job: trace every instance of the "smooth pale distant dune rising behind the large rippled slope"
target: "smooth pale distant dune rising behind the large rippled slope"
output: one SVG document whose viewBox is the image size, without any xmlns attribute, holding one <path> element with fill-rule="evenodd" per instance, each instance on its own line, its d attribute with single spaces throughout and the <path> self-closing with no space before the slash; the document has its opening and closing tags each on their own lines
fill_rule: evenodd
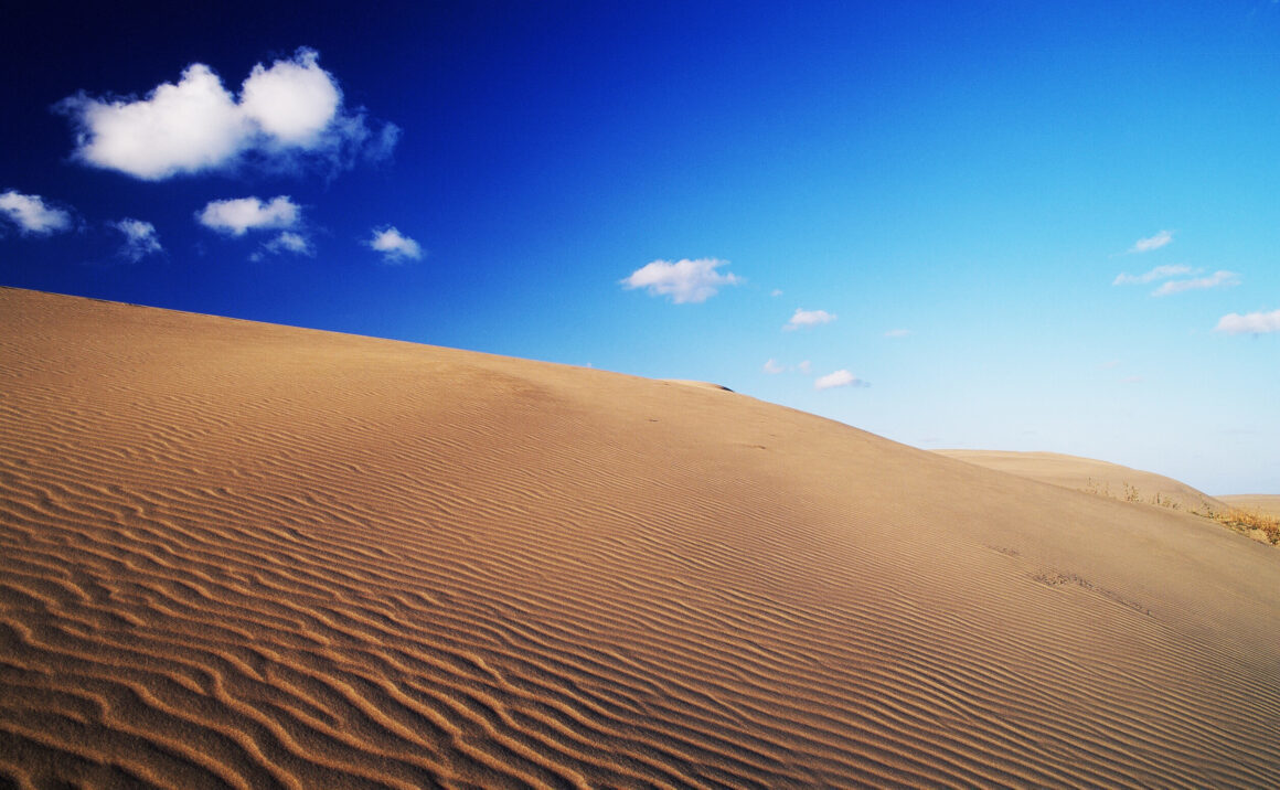
<svg viewBox="0 0 1280 790">
<path fill-rule="evenodd" d="M 1226 510 L 1226 504 L 1217 498 L 1172 478 L 1093 458 L 1052 452 L 998 449 L 940 449 L 936 452 L 948 458 L 968 461 L 1019 478 L 1052 483 L 1116 499 L 1125 499 L 1128 494 L 1130 498 L 1135 497 L 1138 502 L 1152 504 L 1158 494 L 1160 502 L 1165 503 L 1166 507 L 1176 504 L 1180 510 L 1201 512 L 1210 508 Z M 1132 488 L 1126 490 L 1125 485 Z"/>
</svg>

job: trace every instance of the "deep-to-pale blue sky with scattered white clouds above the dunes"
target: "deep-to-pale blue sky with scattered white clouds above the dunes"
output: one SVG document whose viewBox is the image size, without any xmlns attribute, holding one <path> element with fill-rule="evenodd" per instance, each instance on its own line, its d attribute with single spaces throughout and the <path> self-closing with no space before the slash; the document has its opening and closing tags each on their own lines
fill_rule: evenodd
<svg viewBox="0 0 1280 790">
<path fill-rule="evenodd" d="M 266 5 L 12 12 L 0 284 L 1280 493 L 1276 3 Z"/>
</svg>

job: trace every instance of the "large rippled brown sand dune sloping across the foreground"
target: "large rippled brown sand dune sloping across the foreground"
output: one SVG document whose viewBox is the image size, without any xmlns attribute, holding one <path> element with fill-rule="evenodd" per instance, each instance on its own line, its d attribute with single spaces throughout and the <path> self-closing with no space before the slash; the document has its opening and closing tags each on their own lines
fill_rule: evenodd
<svg viewBox="0 0 1280 790">
<path fill-rule="evenodd" d="M 1280 562 L 723 391 L 0 291 L 20 786 L 1249 786 Z"/>
</svg>

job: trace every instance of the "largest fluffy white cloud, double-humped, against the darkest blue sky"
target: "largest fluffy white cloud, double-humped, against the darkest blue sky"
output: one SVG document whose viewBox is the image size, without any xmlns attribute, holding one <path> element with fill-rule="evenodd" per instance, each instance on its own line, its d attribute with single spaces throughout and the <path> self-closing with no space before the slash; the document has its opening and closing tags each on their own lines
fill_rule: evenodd
<svg viewBox="0 0 1280 790">
<path fill-rule="evenodd" d="M 247 161 L 289 169 L 310 157 L 349 166 L 360 156 L 389 155 L 399 129 L 374 131 L 362 111 L 346 110 L 319 58 L 300 49 L 270 68 L 257 64 L 238 97 L 212 69 L 193 63 L 146 99 L 78 93 L 58 109 L 76 125 L 76 159 L 146 181 Z"/>
</svg>

